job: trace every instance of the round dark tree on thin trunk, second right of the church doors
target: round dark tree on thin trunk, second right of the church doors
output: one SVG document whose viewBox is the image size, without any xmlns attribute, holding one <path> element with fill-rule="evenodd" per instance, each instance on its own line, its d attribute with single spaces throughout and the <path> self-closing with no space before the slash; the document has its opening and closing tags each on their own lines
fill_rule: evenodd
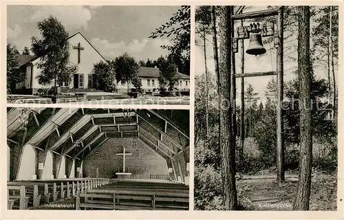
<svg viewBox="0 0 344 220">
<path fill-rule="evenodd" d="M 135 58 L 129 56 L 127 53 L 116 57 L 112 64 L 116 72 L 117 83 L 120 81 L 127 82 L 129 92 L 129 82 L 138 76 L 138 68 L 140 66 L 136 63 Z"/>
</svg>

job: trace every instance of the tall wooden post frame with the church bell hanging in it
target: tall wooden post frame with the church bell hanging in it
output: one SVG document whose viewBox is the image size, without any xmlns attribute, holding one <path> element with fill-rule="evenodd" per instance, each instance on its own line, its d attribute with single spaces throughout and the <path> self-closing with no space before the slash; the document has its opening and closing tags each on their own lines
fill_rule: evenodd
<svg viewBox="0 0 344 220">
<path fill-rule="evenodd" d="M 242 10 L 241 10 L 242 11 Z M 243 26 L 242 21 L 244 19 L 256 19 L 262 17 L 276 17 L 276 24 L 277 30 L 275 30 L 275 25 L 272 24 L 259 24 L 259 23 L 251 23 L 248 26 Z M 283 164 L 284 164 L 284 139 L 283 139 L 283 6 L 279 6 L 278 8 L 268 9 L 268 10 L 261 10 L 256 12 L 247 12 L 247 13 L 240 13 L 240 14 L 233 14 L 231 16 L 232 22 L 234 23 L 237 20 L 241 20 L 241 27 L 238 27 L 236 30 L 237 37 L 235 41 L 233 41 L 233 47 L 235 50 L 233 51 L 236 53 L 237 50 L 237 41 L 244 39 L 250 39 L 250 45 L 246 50 L 247 54 L 251 55 L 261 55 L 266 53 L 266 49 L 262 43 L 262 37 L 272 36 L 275 42 L 275 48 L 277 49 L 277 69 L 275 71 L 270 72 L 252 72 L 252 73 L 244 73 L 235 74 L 235 78 L 241 77 L 254 77 L 254 76 L 272 76 L 277 75 L 277 181 L 281 182 L 284 181 L 284 172 L 283 172 Z M 234 25 L 232 25 L 232 32 L 234 32 Z M 262 28 L 261 28 L 262 27 Z M 244 51 L 243 51 L 244 52 Z M 244 57 L 242 57 L 242 62 L 244 63 Z M 241 96 L 243 99 L 244 96 Z M 241 103 L 244 103 L 244 100 L 241 100 Z M 242 108 L 242 106 L 241 106 Z M 241 111 L 243 115 L 241 118 L 244 117 L 244 112 Z"/>
</svg>

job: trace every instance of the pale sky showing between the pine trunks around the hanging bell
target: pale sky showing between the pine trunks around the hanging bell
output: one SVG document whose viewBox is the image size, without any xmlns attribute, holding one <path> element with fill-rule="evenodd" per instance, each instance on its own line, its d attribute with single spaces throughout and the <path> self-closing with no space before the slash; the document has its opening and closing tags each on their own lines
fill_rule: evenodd
<svg viewBox="0 0 344 220">
<path fill-rule="evenodd" d="M 257 11 L 257 10 L 266 10 L 267 6 L 259 6 L 259 7 L 252 7 L 249 9 L 245 9 L 244 12 L 250 12 L 250 11 Z M 235 28 L 240 25 L 239 22 L 235 24 Z M 249 23 L 245 23 L 244 25 L 249 25 Z M 312 24 L 311 24 L 312 25 Z M 197 40 L 197 36 L 195 36 Z M 203 42 L 200 40 L 197 40 L 197 43 L 200 45 L 195 46 L 195 75 L 199 76 L 201 74 L 204 74 L 205 72 L 205 65 L 204 65 L 204 48 L 203 48 Z M 219 42 L 219 39 L 217 41 Z M 249 45 L 249 39 L 244 40 L 244 50 L 247 50 Z M 235 66 L 236 66 L 236 73 L 241 73 L 241 43 L 238 43 L 239 52 L 235 54 Z M 268 71 L 276 71 L 276 50 L 274 48 L 273 43 L 265 44 L 265 49 L 267 50 L 266 54 L 261 56 L 254 56 L 249 54 L 244 54 L 244 72 L 268 72 Z M 291 49 L 289 48 L 291 47 Z M 293 36 L 290 36 L 290 39 L 284 41 L 284 64 L 283 64 L 283 80 L 284 82 L 287 82 L 289 80 L 292 80 L 296 77 L 294 72 L 297 70 L 297 61 L 291 61 L 288 56 L 293 56 L 297 58 L 297 33 L 293 34 Z M 213 37 L 211 35 L 207 36 L 206 41 L 206 59 L 207 59 L 207 68 L 209 72 L 215 73 L 215 64 L 213 60 Z M 335 68 L 337 79 L 338 79 L 338 67 Z M 319 76 L 321 78 L 327 79 L 327 65 L 316 65 L 314 68 L 314 73 L 316 76 Z M 277 78 L 277 76 L 256 76 L 256 77 L 250 77 L 245 78 L 245 84 L 244 87 L 248 86 L 248 83 L 250 83 L 256 92 L 258 92 L 259 98 L 261 100 L 264 99 L 264 93 L 267 90 L 266 86 L 268 85 L 268 81 L 272 80 L 272 78 Z M 240 97 L 240 87 L 241 78 L 237 78 L 236 84 L 237 84 L 237 99 Z"/>
</svg>

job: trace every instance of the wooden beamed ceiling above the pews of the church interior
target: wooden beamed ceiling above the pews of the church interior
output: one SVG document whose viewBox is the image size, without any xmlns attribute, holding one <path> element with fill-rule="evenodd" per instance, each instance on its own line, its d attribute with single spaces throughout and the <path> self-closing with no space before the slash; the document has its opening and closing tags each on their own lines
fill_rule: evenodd
<svg viewBox="0 0 344 220">
<path fill-rule="evenodd" d="M 32 144 L 76 159 L 85 158 L 110 138 L 138 137 L 165 159 L 189 147 L 189 111 L 25 108 L 29 117 L 23 130 L 20 110 L 8 109 L 9 145 Z"/>
</svg>

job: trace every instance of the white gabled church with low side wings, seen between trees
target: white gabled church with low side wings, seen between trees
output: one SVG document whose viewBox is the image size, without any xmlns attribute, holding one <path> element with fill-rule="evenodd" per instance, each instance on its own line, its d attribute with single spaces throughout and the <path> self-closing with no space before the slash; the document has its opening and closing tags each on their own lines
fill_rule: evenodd
<svg viewBox="0 0 344 220">
<path fill-rule="evenodd" d="M 96 79 L 94 78 L 94 64 L 106 59 L 96 50 L 96 48 L 80 34 L 80 32 L 72 35 L 68 39 L 69 42 L 69 62 L 78 66 L 78 72 L 74 74 L 69 82 L 61 83 L 61 92 L 87 92 L 96 91 Z M 38 89 L 50 89 L 54 83 L 50 85 L 40 85 L 37 80 L 41 69 L 37 68 L 40 62 L 39 56 L 23 55 L 18 57 L 19 69 L 25 72 L 25 81 L 17 83 L 15 94 L 36 94 Z M 180 90 L 189 90 L 190 77 L 180 74 L 180 80 L 176 87 Z M 142 89 L 144 91 L 153 91 L 159 88 L 159 69 L 151 67 L 140 67 L 138 76 L 142 79 Z M 116 83 L 116 82 L 114 82 Z M 127 92 L 127 83 L 116 83 L 118 92 Z M 133 86 L 129 83 L 129 89 Z"/>
</svg>

